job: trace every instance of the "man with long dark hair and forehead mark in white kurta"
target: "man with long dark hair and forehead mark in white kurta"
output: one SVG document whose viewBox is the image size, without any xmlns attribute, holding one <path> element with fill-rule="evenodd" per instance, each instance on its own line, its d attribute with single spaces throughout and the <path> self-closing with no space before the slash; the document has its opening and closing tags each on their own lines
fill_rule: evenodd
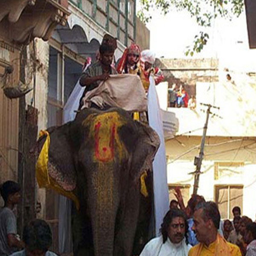
<svg viewBox="0 0 256 256">
<path fill-rule="evenodd" d="M 140 256 L 187 256 L 191 245 L 185 238 L 186 216 L 179 209 L 169 210 L 161 225 L 161 236 L 151 239 Z"/>
</svg>

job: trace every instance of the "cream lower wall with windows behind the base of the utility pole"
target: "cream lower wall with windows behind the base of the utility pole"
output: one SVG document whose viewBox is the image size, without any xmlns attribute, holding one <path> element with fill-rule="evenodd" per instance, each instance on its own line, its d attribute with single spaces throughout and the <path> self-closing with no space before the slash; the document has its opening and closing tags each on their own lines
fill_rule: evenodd
<svg viewBox="0 0 256 256">
<path fill-rule="evenodd" d="M 189 185 L 189 195 L 192 195 L 194 184 L 194 176 L 190 173 L 195 171 L 194 157 L 199 154 L 200 143 L 201 137 L 196 136 L 179 136 L 166 141 L 168 184 Z M 256 205 L 252 202 L 256 200 L 255 153 L 256 138 L 207 137 L 198 194 L 206 200 L 215 201 L 216 185 L 243 185 L 242 214 L 254 220 Z M 226 164 L 217 176 L 216 163 Z M 238 163 L 243 164 L 234 167 Z"/>
</svg>

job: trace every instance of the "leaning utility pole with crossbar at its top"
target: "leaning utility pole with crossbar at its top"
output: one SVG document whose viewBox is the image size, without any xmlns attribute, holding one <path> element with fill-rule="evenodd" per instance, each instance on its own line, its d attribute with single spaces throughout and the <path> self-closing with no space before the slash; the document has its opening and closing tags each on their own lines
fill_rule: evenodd
<svg viewBox="0 0 256 256">
<path fill-rule="evenodd" d="M 193 194 L 197 194 L 197 191 L 198 191 L 199 176 L 201 174 L 201 165 L 202 165 L 202 160 L 204 157 L 204 143 L 205 143 L 206 131 L 207 131 L 207 127 L 208 127 L 209 115 L 212 114 L 212 112 L 210 110 L 211 110 L 211 108 L 220 109 L 219 107 L 212 106 L 211 104 L 203 104 L 203 103 L 200 103 L 200 104 L 203 106 L 206 106 L 208 108 L 206 111 L 206 122 L 204 124 L 204 131 L 203 131 L 203 137 L 201 140 L 199 157 L 195 157 L 195 160 L 194 160 L 194 165 L 196 166 L 196 170 L 195 170 L 195 172 L 193 172 L 193 174 L 195 175 Z"/>
</svg>

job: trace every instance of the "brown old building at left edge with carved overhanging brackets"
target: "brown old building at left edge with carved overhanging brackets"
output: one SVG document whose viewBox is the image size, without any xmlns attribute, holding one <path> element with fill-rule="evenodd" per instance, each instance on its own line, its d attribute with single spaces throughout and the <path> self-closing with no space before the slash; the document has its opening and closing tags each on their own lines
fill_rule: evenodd
<svg viewBox="0 0 256 256">
<path fill-rule="evenodd" d="M 35 159 L 30 150 L 38 133 L 36 88 L 43 89 L 44 76 L 38 74 L 45 68 L 37 58 L 37 41 L 49 40 L 56 26 L 65 26 L 70 12 L 67 0 L 1 0 L 0 6 L 0 183 L 11 179 L 22 186 L 20 231 L 35 218 Z M 33 101 L 26 108 L 24 95 L 32 88 Z"/>
</svg>

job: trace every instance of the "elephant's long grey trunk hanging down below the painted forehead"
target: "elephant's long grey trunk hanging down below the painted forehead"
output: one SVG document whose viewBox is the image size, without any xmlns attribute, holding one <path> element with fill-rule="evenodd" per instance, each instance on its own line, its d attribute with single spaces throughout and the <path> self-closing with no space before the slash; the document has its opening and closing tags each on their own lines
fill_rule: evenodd
<svg viewBox="0 0 256 256">
<path fill-rule="evenodd" d="M 92 193 L 88 198 L 95 256 L 113 256 L 115 219 L 119 205 L 117 182 L 113 166 L 99 163 L 99 169 L 92 176 Z"/>
</svg>

